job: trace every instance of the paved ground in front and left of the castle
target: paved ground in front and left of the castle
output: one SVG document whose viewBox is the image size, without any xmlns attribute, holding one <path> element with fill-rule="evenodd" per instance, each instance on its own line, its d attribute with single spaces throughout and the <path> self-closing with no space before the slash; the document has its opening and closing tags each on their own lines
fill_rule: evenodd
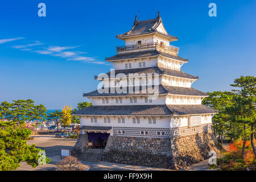
<svg viewBox="0 0 256 182">
<path fill-rule="evenodd" d="M 26 162 L 21 163 L 20 167 L 17 170 L 20 171 L 53 171 L 55 170 L 55 164 L 60 162 L 60 150 L 71 149 L 75 146 L 76 139 L 64 139 L 64 138 L 55 138 L 55 134 L 44 134 L 34 136 L 34 140 L 28 140 L 28 144 L 36 144 L 36 147 L 40 147 L 46 151 L 46 156 L 51 159 L 51 162 L 32 168 Z M 122 171 L 122 170 L 133 170 L 133 171 L 144 171 L 144 170 L 154 170 L 154 171 L 166 171 L 168 169 L 164 168 L 154 168 L 154 167 L 144 167 L 144 166 L 133 166 L 129 164 L 115 164 L 115 163 L 94 163 L 94 162 L 82 162 L 89 166 L 90 171 Z M 189 166 L 187 170 L 191 171 L 205 171 L 208 169 L 208 159 L 200 163 L 193 164 Z"/>
</svg>

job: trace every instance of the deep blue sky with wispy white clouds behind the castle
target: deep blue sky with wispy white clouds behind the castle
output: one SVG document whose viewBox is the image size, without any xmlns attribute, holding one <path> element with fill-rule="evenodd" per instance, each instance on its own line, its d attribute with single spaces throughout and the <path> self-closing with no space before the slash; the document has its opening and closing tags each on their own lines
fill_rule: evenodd
<svg viewBox="0 0 256 182">
<path fill-rule="evenodd" d="M 46 17 L 38 4 L 46 4 Z M 217 17 L 208 5 L 217 5 Z M 32 99 L 48 109 L 88 101 L 94 75 L 113 66 L 122 34 L 160 10 L 168 33 L 179 40 L 182 71 L 199 76 L 193 88 L 230 90 L 234 78 L 255 76 L 256 1 L 5 1 L 0 5 L 0 102 Z"/>
</svg>

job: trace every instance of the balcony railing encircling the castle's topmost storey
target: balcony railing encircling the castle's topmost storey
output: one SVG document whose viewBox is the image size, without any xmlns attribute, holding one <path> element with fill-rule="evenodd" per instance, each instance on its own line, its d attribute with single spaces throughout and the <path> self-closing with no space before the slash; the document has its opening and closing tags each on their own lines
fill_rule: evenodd
<svg viewBox="0 0 256 182">
<path fill-rule="evenodd" d="M 147 43 L 147 44 L 136 44 L 131 46 L 120 46 L 116 47 L 117 52 L 123 52 L 123 51 L 133 51 L 138 49 L 150 49 L 155 48 L 157 50 L 162 50 L 165 53 L 171 53 L 172 55 L 177 55 L 179 53 L 179 47 L 175 46 L 166 46 L 160 43 Z"/>
</svg>

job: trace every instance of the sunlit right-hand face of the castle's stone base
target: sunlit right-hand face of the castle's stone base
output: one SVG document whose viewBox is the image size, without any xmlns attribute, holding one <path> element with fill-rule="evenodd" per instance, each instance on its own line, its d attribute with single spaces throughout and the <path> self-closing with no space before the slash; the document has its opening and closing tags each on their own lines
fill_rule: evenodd
<svg viewBox="0 0 256 182">
<path fill-rule="evenodd" d="M 209 151 L 219 154 L 222 148 L 212 133 L 175 137 L 171 145 L 177 168 L 181 168 L 181 162 L 191 165 L 209 159 Z"/>
</svg>

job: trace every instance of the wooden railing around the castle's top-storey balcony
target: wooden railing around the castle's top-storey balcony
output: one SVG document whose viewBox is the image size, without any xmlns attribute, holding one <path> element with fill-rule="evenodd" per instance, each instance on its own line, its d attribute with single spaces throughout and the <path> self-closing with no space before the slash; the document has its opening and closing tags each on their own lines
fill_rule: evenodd
<svg viewBox="0 0 256 182">
<path fill-rule="evenodd" d="M 179 47 L 175 47 L 171 45 L 165 46 L 159 43 L 138 44 L 138 45 L 132 45 L 132 46 L 121 46 L 116 48 L 117 48 L 117 52 L 120 52 L 120 51 L 129 51 L 129 50 L 135 50 L 135 49 L 145 49 L 145 48 L 154 48 L 154 47 L 160 47 L 169 51 L 174 51 L 176 53 L 179 53 Z"/>
</svg>

